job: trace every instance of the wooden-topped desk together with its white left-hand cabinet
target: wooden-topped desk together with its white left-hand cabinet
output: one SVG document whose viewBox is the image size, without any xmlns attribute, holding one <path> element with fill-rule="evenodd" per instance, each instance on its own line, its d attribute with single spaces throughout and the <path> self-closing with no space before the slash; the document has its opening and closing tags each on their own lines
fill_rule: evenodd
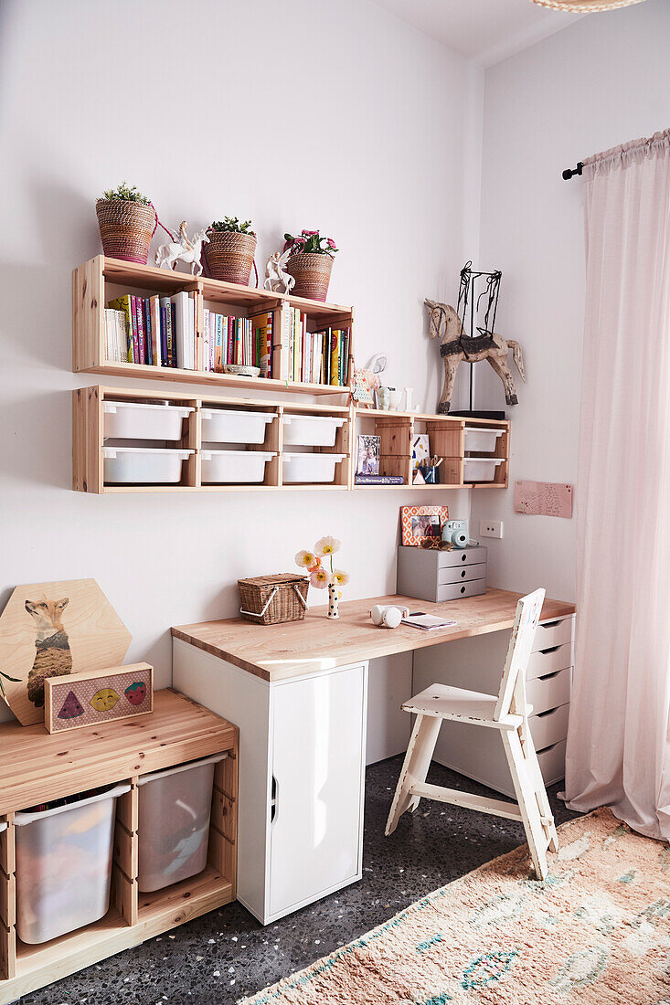
<svg viewBox="0 0 670 1005">
<path fill-rule="evenodd" d="M 389 659 L 404 659 L 395 677 L 397 710 L 412 692 L 415 651 L 437 653 L 435 647 L 450 643 L 451 652 L 475 636 L 506 645 L 520 596 L 488 590 L 447 604 L 374 597 L 341 603 L 337 621 L 317 608 L 289 624 L 232 618 L 172 628 L 174 686 L 239 727 L 237 897 L 259 921 L 269 924 L 361 877 L 367 733 L 390 715 L 381 700 L 384 674 L 398 667 Z M 373 604 L 407 606 L 457 624 L 430 632 L 377 628 L 368 616 Z M 545 600 L 541 620 L 551 649 L 548 633 L 562 630 L 567 619 L 571 638 L 574 610 Z M 495 688 L 502 663 L 494 668 Z M 375 697 L 368 717 L 370 678 Z M 395 716 L 408 736 L 409 716 Z M 403 738 L 382 756 L 404 746 Z"/>
</svg>

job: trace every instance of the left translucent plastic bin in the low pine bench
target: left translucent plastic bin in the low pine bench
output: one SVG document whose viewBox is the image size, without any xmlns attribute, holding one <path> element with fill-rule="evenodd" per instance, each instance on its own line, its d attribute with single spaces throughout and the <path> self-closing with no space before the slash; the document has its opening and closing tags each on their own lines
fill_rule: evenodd
<svg viewBox="0 0 670 1005">
<path fill-rule="evenodd" d="M 130 785 L 16 814 L 16 932 L 22 942 L 48 942 L 105 917 L 116 802 L 125 792 Z"/>
</svg>

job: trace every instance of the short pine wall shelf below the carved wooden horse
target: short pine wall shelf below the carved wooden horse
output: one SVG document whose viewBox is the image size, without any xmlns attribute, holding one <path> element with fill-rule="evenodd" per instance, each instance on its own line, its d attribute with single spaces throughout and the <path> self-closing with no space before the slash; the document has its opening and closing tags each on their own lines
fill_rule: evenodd
<svg viewBox="0 0 670 1005">
<path fill-rule="evenodd" d="M 421 491 L 439 491 L 446 488 L 506 488 L 509 478 L 509 420 L 462 419 L 449 415 L 430 415 L 418 412 L 388 412 L 381 409 L 355 409 L 354 433 L 379 436 L 379 473 L 400 475 L 403 485 L 354 485 L 363 491 L 381 488 L 414 488 Z M 474 441 L 469 449 L 468 430 L 491 431 L 493 449 L 482 450 Z M 440 484 L 411 485 L 411 450 L 414 438 L 428 433 L 431 454 L 443 457 L 440 465 Z M 494 441 L 495 440 L 495 446 Z M 353 443 L 355 457 L 356 441 Z M 474 465 L 474 460 L 482 463 Z M 470 474 L 470 468 L 475 474 Z M 480 473 L 483 472 L 483 473 Z M 492 480 L 480 480 L 490 475 Z"/>
</svg>

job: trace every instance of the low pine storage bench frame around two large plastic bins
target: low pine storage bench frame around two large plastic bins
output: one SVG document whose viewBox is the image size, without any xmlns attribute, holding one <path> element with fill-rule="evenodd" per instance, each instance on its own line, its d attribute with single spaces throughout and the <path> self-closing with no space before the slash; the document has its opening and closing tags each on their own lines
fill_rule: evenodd
<svg viewBox="0 0 670 1005">
<path fill-rule="evenodd" d="M 159 690 L 149 716 L 50 736 L 43 725 L 0 726 L 0 1005 L 108 956 L 138 946 L 235 897 L 237 728 L 177 691 Z M 137 780 L 187 761 L 227 753 L 216 765 L 207 866 L 153 893 L 139 893 Z M 16 937 L 14 813 L 113 782 L 119 798 L 110 910 L 51 942 Z"/>
</svg>

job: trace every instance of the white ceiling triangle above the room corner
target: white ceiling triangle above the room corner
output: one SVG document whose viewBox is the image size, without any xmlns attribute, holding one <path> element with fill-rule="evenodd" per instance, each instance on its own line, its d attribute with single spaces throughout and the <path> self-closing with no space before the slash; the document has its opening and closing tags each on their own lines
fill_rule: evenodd
<svg viewBox="0 0 670 1005">
<path fill-rule="evenodd" d="M 374 2 L 427 35 L 456 49 L 461 55 L 476 59 L 485 66 L 499 62 L 584 17 L 583 14 L 550 11 L 530 0 Z"/>
</svg>

